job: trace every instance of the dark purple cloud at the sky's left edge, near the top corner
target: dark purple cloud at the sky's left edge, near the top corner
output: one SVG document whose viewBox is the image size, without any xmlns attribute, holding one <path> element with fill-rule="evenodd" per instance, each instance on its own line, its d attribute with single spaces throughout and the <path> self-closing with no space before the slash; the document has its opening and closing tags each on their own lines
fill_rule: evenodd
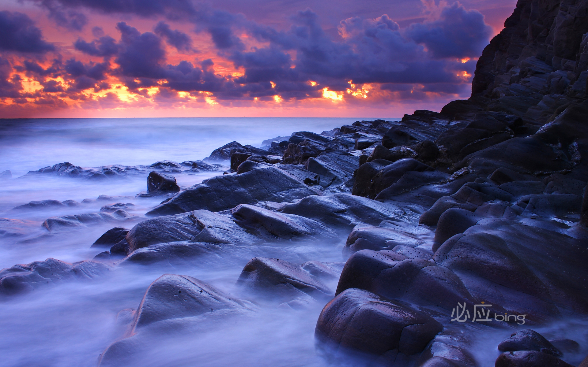
<svg viewBox="0 0 588 367">
<path fill-rule="evenodd" d="M 0 11 L 0 50 L 45 53 L 55 49 L 26 14 Z"/>
</svg>

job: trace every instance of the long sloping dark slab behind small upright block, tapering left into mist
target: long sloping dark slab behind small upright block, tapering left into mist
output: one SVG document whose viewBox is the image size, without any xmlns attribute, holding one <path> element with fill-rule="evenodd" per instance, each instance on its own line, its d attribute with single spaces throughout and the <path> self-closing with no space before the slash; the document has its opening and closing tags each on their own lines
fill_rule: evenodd
<svg viewBox="0 0 588 367">
<path fill-rule="evenodd" d="M 206 209 L 221 211 L 258 201 L 292 201 L 318 192 L 275 167 L 260 167 L 242 174 L 212 177 L 186 188 L 168 202 L 146 213 L 164 216 Z"/>
</svg>

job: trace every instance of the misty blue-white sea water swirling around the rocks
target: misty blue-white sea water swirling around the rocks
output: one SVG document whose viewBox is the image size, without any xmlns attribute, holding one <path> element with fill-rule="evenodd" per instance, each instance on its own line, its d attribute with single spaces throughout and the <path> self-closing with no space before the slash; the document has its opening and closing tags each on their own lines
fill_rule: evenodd
<svg viewBox="0 0 588 367">
<path fill-rule="evenodd" d="M 100 181 L 27 175 L 29 170 L 69 161 L 76 166 L 111 164 L 145 165 L 161 160 L 198 160 L 212 150 L 237 140 L 260 146 L 262 140 L 289 136 L 295 131 L 320 133 L 352 118 L 217 118 L 217 119 L 35 119 L 0 120 L 0 172 L 11 170 L 12 179 L 0 181 L 0 217 L 22 220 L 17 240 L 0 238 L 0 268 L 53 257 L 67 262 L 92 259 L 103 248 L 92 243 L 112 223 L 48 234 L 41 223 L 48 217 L 98 212 L 109 203 L 94 201 L 78 207 L 11 212 L 32 200 L 59 201 L 99 195 L 123 196 L 135 206 L 131 228 L 160 198 L 138 198 L 146 190 L 146 173 Z M 390 120 L 390 119 L 389 119 Z M 222 174 L 177 174 L 181 187 Z M 99 355 L 125 332 L 123 309 L 138 307 L 146 288 L 166 273 L 189 275 L 208 282 L 234 297 L 252 299 L 258 312 L 250 318 L 229 319 L 194 333 L 161 335 L 149 353 L 133 356 L 134 365 L 328 365 L 315 349 L 316 320 L 326 301 L 311 302 L 293 310 L 277 307 L 263 298 L 251 298 L 235 287 L 243 266 L 253 257 L 280 258 L 295 264 L 317 260 L 342 262 L 340 243 L 271 244 L 235 246 L 218 253 L 187 259 L 182 265 L 152 264 L 113 267 L 109 274 L 90 281 L 68 281 L 34 292 L 0 298 L 0 365 L 96 365 Z M 336 281 L 329 284 L 334 290 Z M 524 327 L 522 327 L 524 328 Z M 543 326 L 546 336 L 588 339 L 586 325 L 570 320 Z M 482 328 L 470 351 L 482 365 L 493 365 L 496 345 L 509 331 Z M 584 352 L 582 350 L 582 352 Z M 580 360 L 583 356 L 577 356 Z M 576 358 L 576 357 L 574 357 Z M 576 359 L 577 359 L 576 358 Z M 568 361 L 574 362 L 574 361 Z M 357 363 L 348 361 L 348 363 Z M 348 364 L 343 362 L 343 364 Z"/>
</svg>

